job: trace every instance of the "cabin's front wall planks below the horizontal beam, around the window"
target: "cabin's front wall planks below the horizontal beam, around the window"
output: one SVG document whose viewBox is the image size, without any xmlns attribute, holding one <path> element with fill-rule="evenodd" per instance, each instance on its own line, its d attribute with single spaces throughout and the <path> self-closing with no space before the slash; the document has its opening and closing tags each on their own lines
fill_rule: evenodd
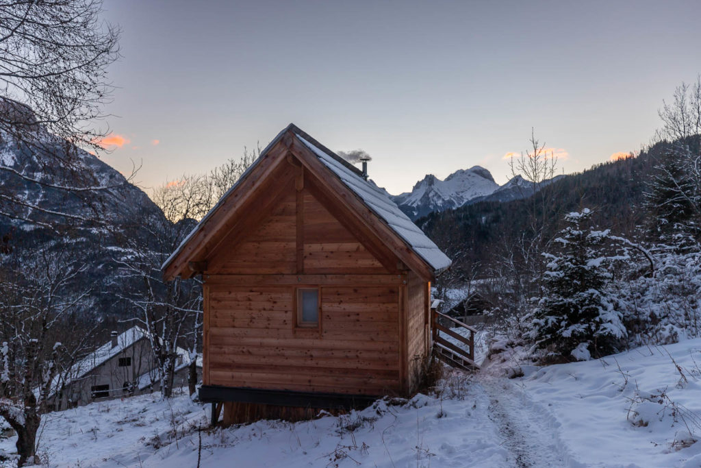
<svg viewBox="0 0 701 468">
<path fill-rule="evenodd" d="M 293 286 L 207 289 L 207 385 L 348 394 L 399 389 L 397 286 L 322 286 L 320 335 L 297 333 Z"/>
</svg>

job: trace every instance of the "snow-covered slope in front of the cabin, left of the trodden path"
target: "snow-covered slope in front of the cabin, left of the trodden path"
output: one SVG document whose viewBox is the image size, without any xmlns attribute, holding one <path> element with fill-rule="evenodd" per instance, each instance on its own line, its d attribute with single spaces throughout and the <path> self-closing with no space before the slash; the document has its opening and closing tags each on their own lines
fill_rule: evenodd
<svg viewBox="0 0 701 468">
<path fill-rule="evenodd" d="M 507 466 L 484 390 L 455 373 L 440 391 L 339 417 L 215 430 L 206 429 L 209 407 L 186 395 L 135 396 L 51 413 L 39 455 L 50 467 L 83 468 L 189 468 L 198 457 L 203 467 Z M 13 453 L 15 440 L 0 441 L 0 450 Z"/>
</svg>

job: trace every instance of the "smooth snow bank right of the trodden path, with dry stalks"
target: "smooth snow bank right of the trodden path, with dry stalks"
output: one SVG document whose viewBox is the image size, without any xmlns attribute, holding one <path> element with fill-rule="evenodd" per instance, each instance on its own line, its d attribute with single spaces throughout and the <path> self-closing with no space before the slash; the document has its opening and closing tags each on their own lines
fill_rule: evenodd
<svg viewBox="0 0 701 468">
<path fill-rule="evenodd" d="M 699 467 L 701 442 L 693 441 L 701 438 L 700 366 L 701 339 L 695 339 L 530 368 L 520 382 L 552 410 L 560 438 L 580 462 Z"/>
</svg>

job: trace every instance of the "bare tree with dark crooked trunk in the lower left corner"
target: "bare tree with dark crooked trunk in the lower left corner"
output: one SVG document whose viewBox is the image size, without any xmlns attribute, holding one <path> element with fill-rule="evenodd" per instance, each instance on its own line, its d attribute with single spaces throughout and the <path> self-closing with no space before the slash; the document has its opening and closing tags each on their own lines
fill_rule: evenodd
<svg viewBox="0 0 701 468">
<path fill-rule="evenodd" d="M 0 278 L 0 416 L 18 435 L 18 466 L 34 464 L 41 415 L 55 401 L 90 333 L 69 316 L 86 312 L 90 290 L 75 290 L 84 266 L 43 249 L 4 258 Z"/>
</svg>

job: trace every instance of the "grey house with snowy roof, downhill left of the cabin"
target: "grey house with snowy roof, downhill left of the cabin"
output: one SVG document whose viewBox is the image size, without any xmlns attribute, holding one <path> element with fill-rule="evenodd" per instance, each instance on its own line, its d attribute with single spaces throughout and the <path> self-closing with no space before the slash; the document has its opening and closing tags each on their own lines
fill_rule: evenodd
<svg viewBox="0 0 701 468">
<path fill-rule="evenodd" d="M 178 366 L 174 387 L 187 385 L 189 354 L 178 348 Z M 132 327 L 123 333 L 112 332 L 111 340 L 77 362 L 57 381 L 55 410 L 86 405 L 100 399 L 120 398 L 158 390 L 156 359 L 147 332 Z M 198 362 L 198 378 L 201 377 Z"/>
</svg>

